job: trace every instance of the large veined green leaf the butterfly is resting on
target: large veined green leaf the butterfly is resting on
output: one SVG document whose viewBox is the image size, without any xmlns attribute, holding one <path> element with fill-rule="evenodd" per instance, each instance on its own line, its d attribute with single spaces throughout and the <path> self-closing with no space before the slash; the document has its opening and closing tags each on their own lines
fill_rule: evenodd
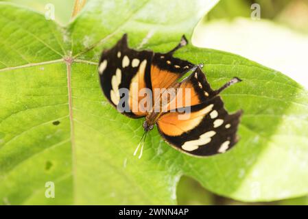
<svg viewBox="0 0 308 219">
<path fill-rule="evenodd" d="M 206 64 L 213 88 L 244 79 L 222 95 L 230 112 L 245 112 L 241 140 L 205 159 L 172 149 L 156 130 L 143 157 L 133 157 L 142 120 L 119 114 L 102 95 L 103 48 L 127 32 L 132 47 L 168 51 L 215 3 L 93 0 L 65 29 L 0 4 L 0 202 L 175 204 L 182 175 L 246 201 L 307 194 L 307 92 L 279 72 L 191 45 L 176 53 Z M 46 181 L 56 198 L 45 198 Z"/>
</svg>

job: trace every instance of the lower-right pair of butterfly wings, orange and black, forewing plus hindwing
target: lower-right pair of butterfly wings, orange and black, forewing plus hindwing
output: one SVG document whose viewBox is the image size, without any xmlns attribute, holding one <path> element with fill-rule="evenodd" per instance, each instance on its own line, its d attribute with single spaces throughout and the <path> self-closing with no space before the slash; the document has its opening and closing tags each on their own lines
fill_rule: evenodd
<svg viewBox="0 0 308 219">
<path fill-rule="evenodd" d="M 158 131 L 176 149 L 197 156 L 224 153 L 237 142 L 237 127 L 242 112 L 228 114 L 220 96 L 215 94 L 199 68 L 182 81 L 191 90 L 191 105 L 163 114 Z M 181 99 L 182 94 L 176 96 Z"/>
</svg>

